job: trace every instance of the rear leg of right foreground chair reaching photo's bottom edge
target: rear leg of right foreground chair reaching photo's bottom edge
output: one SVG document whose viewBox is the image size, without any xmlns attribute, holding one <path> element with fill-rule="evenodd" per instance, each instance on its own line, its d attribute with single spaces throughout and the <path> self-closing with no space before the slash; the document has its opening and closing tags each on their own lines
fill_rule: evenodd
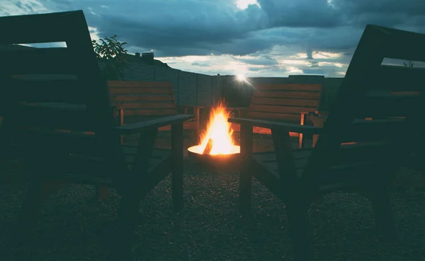
<svg viewBox="0 0 425 261">
<path fill-rule="evenodd" d="M 286 211 L 289 221 L 289 233 L 293 241 L 295 260 L 308 261 L 311 258 L 310 242 L 308 240 L 307 209 L 297 202 L 288 202 Z"/>
</svg>

